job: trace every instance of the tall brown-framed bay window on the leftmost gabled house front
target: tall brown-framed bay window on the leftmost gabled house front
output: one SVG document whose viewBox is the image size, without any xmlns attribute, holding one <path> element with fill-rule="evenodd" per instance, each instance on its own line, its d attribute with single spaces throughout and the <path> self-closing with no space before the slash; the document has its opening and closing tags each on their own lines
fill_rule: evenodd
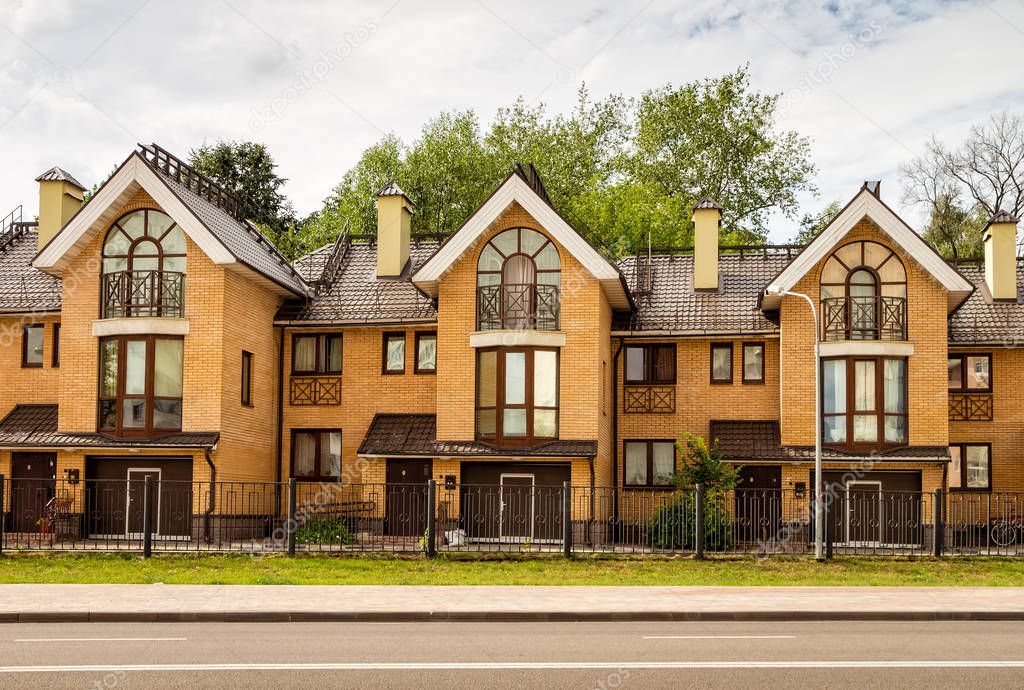
<svg viewBox="0 0 1024 690">
<path fill-rule="evenodd" d="M 99 341 L 100 431 L 144 437 L 181 430 L 183 343 L 155 336 Z"/>
</svg>

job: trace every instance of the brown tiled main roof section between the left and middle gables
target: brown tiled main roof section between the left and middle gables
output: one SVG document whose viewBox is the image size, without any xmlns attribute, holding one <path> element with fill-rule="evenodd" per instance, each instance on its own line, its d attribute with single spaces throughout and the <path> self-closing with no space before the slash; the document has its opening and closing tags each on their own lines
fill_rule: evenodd
<svg viewBox="0 0 1024 690">
<path fill-rule="evenodd" d="M 437 242 L 417 242 L 410 247 L 410 261 L 397 277 L 377 277 L 377 245 L 351 242 L 334 282 L 307 301 L 286 303 L 278 320 L 401 324 L 433 321 L 433 301 L 416 289 L 410 276 L 437 251 Z M 334 245 L 311 252 L 295 262 L 307 283 L 316 282 Z"/>
</svg>

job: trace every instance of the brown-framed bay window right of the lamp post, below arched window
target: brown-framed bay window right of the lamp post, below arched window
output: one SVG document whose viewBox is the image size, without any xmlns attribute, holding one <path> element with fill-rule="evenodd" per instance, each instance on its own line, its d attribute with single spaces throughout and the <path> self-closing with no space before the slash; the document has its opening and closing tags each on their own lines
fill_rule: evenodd
<svg viewBox="0 0 1024 690">
<path fill-rule="evenodd" d="M 821 436 L 828 445 L 871 449 L 907 442 L 906 359 L 821 361 Z"/>
</svg>

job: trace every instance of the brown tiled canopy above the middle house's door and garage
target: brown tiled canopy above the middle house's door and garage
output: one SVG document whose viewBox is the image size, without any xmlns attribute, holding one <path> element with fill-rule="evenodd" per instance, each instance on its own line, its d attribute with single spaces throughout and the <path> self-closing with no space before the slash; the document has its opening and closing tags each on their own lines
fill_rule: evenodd
<svg viewBox="0 0 1024 690">
<path fill-rule="evenodd" d="M 360 456 L 494 458 L 593 458 L 597 441 L 557 440 L 524 448 L 499 448 L 480 441 L 438 441 L 434 415 L 378 414 L 359 444 Z"/>
</svg>

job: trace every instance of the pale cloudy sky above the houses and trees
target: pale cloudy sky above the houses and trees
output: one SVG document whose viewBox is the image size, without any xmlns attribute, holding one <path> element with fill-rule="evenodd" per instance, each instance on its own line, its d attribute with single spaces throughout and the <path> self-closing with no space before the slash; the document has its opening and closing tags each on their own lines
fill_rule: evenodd
<svg viewBox="0 0 1024 690">
<path fill-rule="evenodd" d="M 0 0 L 0 215 L 33 215 L 53 165 L 91 185 L 136 142 L 183 157 L 217 138 L 264 141 L 304 214 L 439 111 L 562 111 L 581 82 L 634 95 L 744 62 L 813 140 L 806 210 L 874 178 L 903 209 L 899 164 L 933 133 L 1024 111 L 1022 45 L 1022 0 Z"/>
</svg>

